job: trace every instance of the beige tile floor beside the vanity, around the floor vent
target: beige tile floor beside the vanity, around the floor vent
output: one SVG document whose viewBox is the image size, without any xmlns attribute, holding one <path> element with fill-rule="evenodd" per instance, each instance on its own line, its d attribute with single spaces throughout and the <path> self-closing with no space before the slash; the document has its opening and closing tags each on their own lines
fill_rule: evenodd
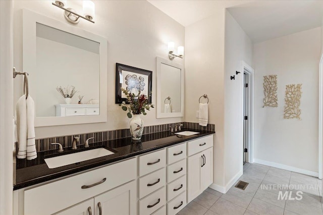
<svg viewBox="0 0 323 215">
<path fill-rule="evenodd" d="M 246 163 L 243 169 L 239 180 L 249 183 L 245 190 L 234 187 L 239 180 L 226 194 L 207 188 L 178 215 L 323 214 L 318 178 L 261 164 Z"/>
</svg>

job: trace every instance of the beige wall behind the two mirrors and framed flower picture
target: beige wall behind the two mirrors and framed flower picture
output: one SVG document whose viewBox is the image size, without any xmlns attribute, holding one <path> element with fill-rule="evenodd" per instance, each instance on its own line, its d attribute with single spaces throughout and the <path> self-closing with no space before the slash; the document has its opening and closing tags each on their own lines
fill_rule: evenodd
<svg viewBox="0 0 323 215">
<path fill-rule="evenodd" d="M 76 1 L 79 2 L 79 1 Z M 69 1 L 69 4 L 74 2 Z M 14 63 L 22 68 L 22 13 L 26 8 L 52 19 L 67 23 L 63 11 L 51 1 L 14 2 Z M 182 25 L 146 1 L 95 1 L 95 24 L 81 20 L 78 28 L 107 39 L 107 118 L 105 123 L 37 127 L 36 138 L 60 136 L 71 133 L 94 132 L 129 127 L 126 113 L 115 104 L 116 62 L 152 70 L 152 103 L 156 104 L 156 56 L 167 58 L 167 43 L 184 45 L 185 30 Z M 184 64 L 183 59 L 174 61 Z M 15 101 L 22 92 L 21 81 L 15 82 Z M 184 118 L 156 119 L 152 109 L 143 117 L 145 126 L 183 121 Z"/>
</svg>

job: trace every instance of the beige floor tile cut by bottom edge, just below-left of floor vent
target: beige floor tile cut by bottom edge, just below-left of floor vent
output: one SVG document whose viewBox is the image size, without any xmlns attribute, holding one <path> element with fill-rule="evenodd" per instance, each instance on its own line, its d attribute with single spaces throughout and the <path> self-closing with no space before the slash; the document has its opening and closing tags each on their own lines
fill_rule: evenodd
<svg viewBox="0 0 323 215">
<path fill-rule="evenodd" d="M 219 214 L 239 215 L 243 214 L 246 209 L 227 201 L 226 199 L 220 198 L 211 206 L 210 210 Z"/>
</svg>

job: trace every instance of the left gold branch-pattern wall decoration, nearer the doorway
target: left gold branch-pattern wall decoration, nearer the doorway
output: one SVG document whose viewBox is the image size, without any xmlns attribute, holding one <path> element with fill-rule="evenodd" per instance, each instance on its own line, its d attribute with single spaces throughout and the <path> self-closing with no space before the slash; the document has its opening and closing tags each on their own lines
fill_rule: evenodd
<svg viewBox="0 0 323 215">
<path fill-rule="evenodd" d="M 278 107 L 277 75 L 263 77 L 263 106 Z"/>
</svg>

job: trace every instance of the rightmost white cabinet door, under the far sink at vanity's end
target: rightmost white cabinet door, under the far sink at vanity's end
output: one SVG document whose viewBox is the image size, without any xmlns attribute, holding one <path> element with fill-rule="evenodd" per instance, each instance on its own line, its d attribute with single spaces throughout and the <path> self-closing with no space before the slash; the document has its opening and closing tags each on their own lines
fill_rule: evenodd
<svg viewBox="0 0 323 215">
<path fill-rule="evenodd" d="M 204 165 L 201 167 L 201 192 L 213 183 L 213 147 L 204 150 L 202 156 Z"/>
</svg>

